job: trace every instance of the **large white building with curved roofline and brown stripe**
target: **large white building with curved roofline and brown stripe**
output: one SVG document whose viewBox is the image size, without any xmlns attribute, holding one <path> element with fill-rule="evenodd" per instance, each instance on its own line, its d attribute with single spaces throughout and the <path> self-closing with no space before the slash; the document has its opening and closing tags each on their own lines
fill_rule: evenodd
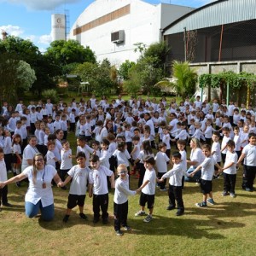
<svg viewBox="0 0 256 256">
<path fill-rule="evenodd" d="M 90 46 L 97 61 L 108 58 L 120 65 L 137 61 L 137 43 L 160 42 L 162 29 L 192 11 L 192 8 L 140 0 L 96 0 L 79 15 L 70 31 L 70 39 Z"/>
</svg>

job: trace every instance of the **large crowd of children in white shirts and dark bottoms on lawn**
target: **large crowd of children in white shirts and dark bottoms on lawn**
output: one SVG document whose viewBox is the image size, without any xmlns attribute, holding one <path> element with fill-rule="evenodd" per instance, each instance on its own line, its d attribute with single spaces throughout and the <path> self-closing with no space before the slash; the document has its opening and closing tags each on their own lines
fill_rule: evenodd
<svg viewBox="0 0 256 256">
<path fill-rule="evenodd" d="M 218 105 L 216 100 L 211 106 L 207 101 L 200 100 L 198 96 L 191 103 L 187 98 L 179 106 L 171 102 L 168 108 L 165 98 L 159 103 L 155 99 L 143 101 L 132 97 L 125 102 L 119 96 L 109 104 L 105 97 L 98 102 L 92 96 L 86 103 L 73 101 L 67 105 L 59 102 L 57 106 L 47 100 L 46 104 L 31 102 L 25 107 L 20 101 L 15 111 L 11 111 L 5 102 L 0 119 L 0 146 L 3 148 L 6 169 L 18 172 L 26 137 L 34 134 L 38 138 L 38 151 L 45 154 L 47 164 L 55 166 L 60 172 L 63 182 L 58 186 L 67 189 L 67 183 L 71 182 L 63 221 L 67 222 L 71 210 L 77 205 L 80 217 L 87 218 L 83 209 L 88 190 L 89 196 L 93 197 L 94 223 L 99 221 L 101 209 L 102 223 L 107 224 L 108 188 L 115 187 L 114 229 L 118 236 L 123 234 L 121 225 L 125 230 L 130 230 L 127 225 L 128 195 L 141 192 L 141 209 L 135 216 L 146 215 L 147 203 L 149 212 L 144 222 L 149 222 L 153 218 L 155 188 L 166 191 L 166 178 L 169 178 L 167 210 L 175 209 L 177 205 L 177 216 L 184 213 L 184 176 L 194 177 L 199 171 L 201 179 L 198 182 L 203 200 L 196 204 L 197 207 L 207 207 L 207 203 L 214 205 L 212 178 L 218 177 L 221 172 L 224 177 L 222 195 L 236 197 L 236 170 L 240 163 L 243 163 L 244 170 L 242 188 L 253 191 L 256 168 L 253 109 L 245 109 L 244 106 L 240 109 L 233 102 L 229 106 L 224 102 Z M 74 156 L 67 142 L 68 128 L 78 137 L 76 166 L 73 166 Z M 62 147 L 57 147 L 61 155 L 58 157 L 55 154 L 56 142 L 49 137 L 60 130 L 64 131 L 64 137 Z M 205 157 L 191 173 L 186 172 L 189 139 L 203 143 L 201 150 Z M 171 145 L 177 147 L 172 157 Z M 153 148 L 158 149 L 155 156 Z M 0 164 L 3 164 L 3 153 L 0 152 Z M 167 172 L 170 159 L 173 166 Z M 220 166 L 221 161 L 223 167 Z M 114 185 L 115 171 L 119 177 Z M 130 175 L 136 174 L 138 188 L 132 191 Z M 1 190 L 3 205 L 6 205 L 8 202 L 4 193 L 7 195 Z"/>
</svg>

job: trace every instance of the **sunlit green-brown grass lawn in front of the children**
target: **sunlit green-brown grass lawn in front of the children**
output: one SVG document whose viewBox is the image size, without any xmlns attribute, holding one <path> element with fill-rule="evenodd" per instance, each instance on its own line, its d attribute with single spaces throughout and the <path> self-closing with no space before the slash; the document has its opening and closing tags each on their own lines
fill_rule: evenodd
<svg viewBox="0 0 256 256">
<path fill-rule="evenodd" d="M 69 141 L 75 152 L 74 137 Z M 128 224 L 131 231 L 116 236 L 113 231 L 113 190 L 109 193 L 110 224 L 92 223 L 92 200 L 86 197 L 85 211 L 89 219 L 79 218 L 73 209 L 67 224 L 62 222 L 67 206 L 68 190 L 54 188 L 55 219 L 42 222 L 26 218 L 21 188 L 9 185 L 11 208 L 0 212 L 0 255 L 255 255 L 256 193 L 241 189 L 241 169 L 238 172 L 236 198 L 222 197 L 222 177 L 213 181 L 215 206 L 195 207 L 202 195 L 195 183 L 185 183 L 183 201 L 185 214 L 166 211 L 167 192 L 156 190 L 154 219 L 143 223 L 135 217 L 139 210 L 139 195 L 130 197 Z M 131 177 L 131 189 L 137 189 L 136 177 Z"/>
</svg>

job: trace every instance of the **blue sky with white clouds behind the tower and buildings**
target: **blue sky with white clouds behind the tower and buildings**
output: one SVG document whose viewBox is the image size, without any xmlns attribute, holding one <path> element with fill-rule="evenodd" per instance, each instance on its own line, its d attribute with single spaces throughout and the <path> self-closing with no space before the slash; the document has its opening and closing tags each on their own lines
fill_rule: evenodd
<svg viewBox="0 0 256 256">
<path fill-rule="evenodd" d="M 144 0 L 148 3 L 172 3 L 201 7 L 213 0 Z M 0 0 L 0 32 L 30 39 L 41 51 L 49 47 L 50 17 L 69 10 L 70 26 L 94 0 Z"/>
</svg>

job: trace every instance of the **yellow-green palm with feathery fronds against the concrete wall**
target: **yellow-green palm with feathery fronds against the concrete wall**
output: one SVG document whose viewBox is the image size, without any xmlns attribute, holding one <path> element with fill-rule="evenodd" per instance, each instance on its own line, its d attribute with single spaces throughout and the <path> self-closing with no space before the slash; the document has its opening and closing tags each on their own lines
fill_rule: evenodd
<svg viewBox="0 0 256 256">
<path fill-rule="evenodd" d="M 177 94 L 182 96 L 192 96 L 195 93 L 197 73 L 195 69 L 189 67 L 189 62 L 174 61 L 172 67 L 173 77 L 177 79 L 175 89 Z"/>
</svg>

